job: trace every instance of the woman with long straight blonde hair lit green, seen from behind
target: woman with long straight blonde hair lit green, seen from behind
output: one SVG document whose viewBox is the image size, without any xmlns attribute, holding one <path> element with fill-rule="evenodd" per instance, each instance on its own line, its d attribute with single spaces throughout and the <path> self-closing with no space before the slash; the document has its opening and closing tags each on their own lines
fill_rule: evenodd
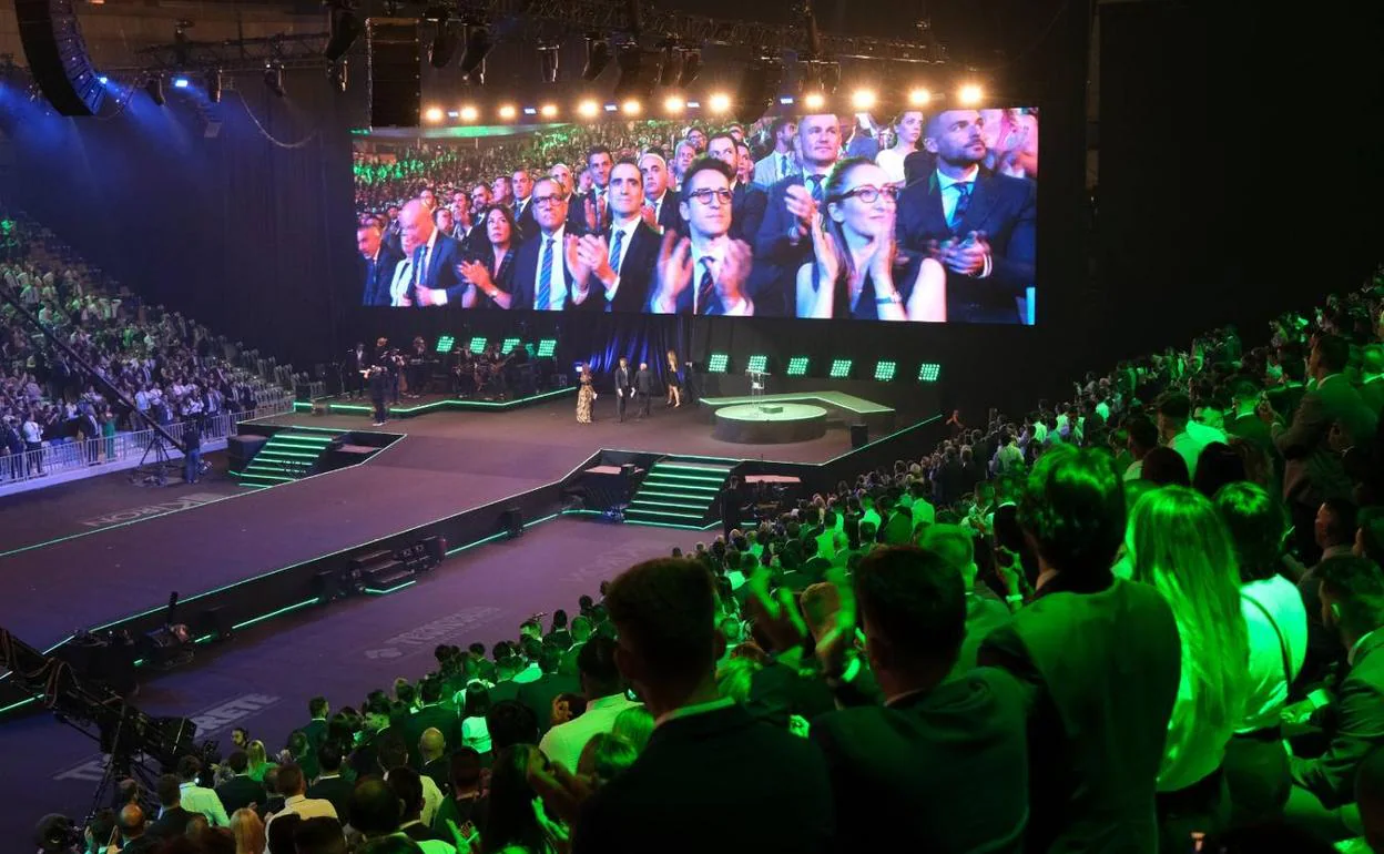
<svg viewBox="0 0 1384 854">
<path fill-rule="evenodd" d="M 1193 832 L 1229 824 L 1222 764 L 1250 695 L 1239 561 L 1211 500 L 1181 486 L 1139 498 L 1125 548 L 1133 579 L 1157 588 L 1172 606 L 1182 639 L 1157 801 L 1163 850 L 1181 851 Z"/>
</svg>

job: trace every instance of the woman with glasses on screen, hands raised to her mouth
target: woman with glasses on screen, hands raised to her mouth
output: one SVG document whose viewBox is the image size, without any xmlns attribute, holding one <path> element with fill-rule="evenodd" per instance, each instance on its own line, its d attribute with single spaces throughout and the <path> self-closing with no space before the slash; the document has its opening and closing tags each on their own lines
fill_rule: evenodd
<svg viewBox="0 0 1384 854">
<path fill-rule="evenodd" d="M 947 320 L 947 274 L 923 259 L 907 296 L 894 284 L 898 188 L 865 158 L 848 158 L 826 179 L 812 226 L 814 260 L 797 271 L 797 317 L 818 320 Z"/>
</svg>

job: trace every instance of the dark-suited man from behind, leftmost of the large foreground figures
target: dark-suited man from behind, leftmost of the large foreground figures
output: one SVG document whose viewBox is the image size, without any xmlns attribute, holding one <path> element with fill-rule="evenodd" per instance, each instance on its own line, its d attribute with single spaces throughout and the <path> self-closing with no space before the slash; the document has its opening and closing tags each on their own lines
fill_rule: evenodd
<svg viewBox="0 0 1384 854">
<path fill-rule="evenodd" d="M 727 840 L 740 851 L 825 851 L 832 797 L 821 754 L 718 698 L 725 637 L 711 573 L 681 558 L 639 563 L 610 584 L 605 605 L 620 633 L 619 669 L 660 724 L 635 763 L 585 801 L 573 854 L 716 851 Z M 547 774 L 537 782 L 554 785 Z"/>
</svg>

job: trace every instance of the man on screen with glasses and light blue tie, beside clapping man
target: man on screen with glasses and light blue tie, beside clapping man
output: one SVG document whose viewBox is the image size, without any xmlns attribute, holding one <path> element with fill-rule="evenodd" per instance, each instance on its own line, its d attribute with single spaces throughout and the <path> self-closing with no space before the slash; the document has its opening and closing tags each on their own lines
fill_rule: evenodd
<svg viewBox="0 0 1384 854">
<path fill-rule="evenodd" d="M 554 179 L 538 179 L 533 185 L 534 219 L 538 231 L 519 245 L 515 253 L 511 309 L 563 311 L 581 307 L 601 311 L 605 303 L 591 288 L 577 293 L 576 282 L 585 282 L 591 271 L 577 255 L 580 231 L 567 221 L 567 201 Z M 574 234 L 573 234 L 574 233 Z M 591 298 L 591 299 L 587 299 Z M 581 302 L 577 302 L 581 299 Z"/>
</svg>

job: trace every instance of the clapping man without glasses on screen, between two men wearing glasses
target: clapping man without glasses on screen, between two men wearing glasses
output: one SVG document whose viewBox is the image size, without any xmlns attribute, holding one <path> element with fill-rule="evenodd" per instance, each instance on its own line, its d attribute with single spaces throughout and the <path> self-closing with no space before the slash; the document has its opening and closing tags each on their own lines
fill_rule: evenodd
<svg viewBox="0 0 1384 854">
<path fill-rule="evenodd" d="M 610 227 L 580 238 L 577 255 L 591 275 L 573 288 L 577 299 L 603 303 L 606 311 L 638 313 L 653 285 L 659 233 L 644 221 L 644 176 L 634 161 L 623 159 L 610 169 L 608 195 Z"/>
</svg>

